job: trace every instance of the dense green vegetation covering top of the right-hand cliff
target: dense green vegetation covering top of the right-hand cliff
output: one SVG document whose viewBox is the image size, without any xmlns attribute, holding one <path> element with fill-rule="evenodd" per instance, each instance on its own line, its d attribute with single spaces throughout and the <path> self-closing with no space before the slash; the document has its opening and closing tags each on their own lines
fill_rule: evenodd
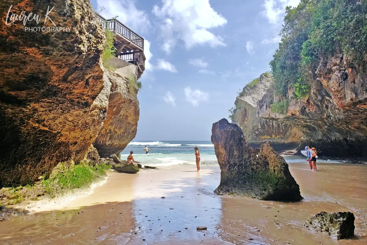
<svg viewBox="0 0 367 245">
<path fill-rule="evenodd" d="M 322 60 L 341 53 L 356 64 L 366 62 L 367 2 L 357 0 L 301 0 L 286 8 L 279 48 L 270 62 L 275 94 L 295 89 L 296 98 L 309 95 L 311 81 Z"/>
</svg>

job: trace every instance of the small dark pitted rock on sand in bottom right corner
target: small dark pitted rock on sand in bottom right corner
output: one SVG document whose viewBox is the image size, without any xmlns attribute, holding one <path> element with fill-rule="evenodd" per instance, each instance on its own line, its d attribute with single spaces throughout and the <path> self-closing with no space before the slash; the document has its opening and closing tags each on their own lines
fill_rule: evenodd
<svg viewBox="0 0 367 245">
<path fill-rule="evenodd" d="M 355 229 L 354 220 L 354 214 L 351 212 L 328 213 L 322 211 L 313 215 L 304 226 L 339 240 L 353 237 Z"/>
</svg>

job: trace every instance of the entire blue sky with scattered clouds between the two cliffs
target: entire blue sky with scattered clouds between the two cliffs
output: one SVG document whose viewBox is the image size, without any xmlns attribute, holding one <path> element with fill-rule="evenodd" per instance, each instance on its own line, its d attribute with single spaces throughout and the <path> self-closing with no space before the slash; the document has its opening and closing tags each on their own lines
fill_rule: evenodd
<svg viewBox="0 0 367 245">
<path fill-rule="evenodd" d="M 145 38 L 134 140 L 210 140 L 237 91 L 268 71 L 299 0 L 91 0 Z"/>
</svg>

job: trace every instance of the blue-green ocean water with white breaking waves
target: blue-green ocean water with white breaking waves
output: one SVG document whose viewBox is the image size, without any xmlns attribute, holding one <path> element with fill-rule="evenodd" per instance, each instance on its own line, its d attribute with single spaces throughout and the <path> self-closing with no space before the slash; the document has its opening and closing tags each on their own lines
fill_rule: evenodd
<svg viewBox="0 0 367 245">
<path fill-rule="evenodd" d="M 143 152 L 145 145 L 152 148 L 148 154 Z M 200 151 L 200 165 L 216 165 L 217 157 L 214 152 L 214 145 L 211 141 L 131 141 L 121 152 L 121 159 L 126 160 L 130 151 L 134 151 L 135 161 L 142 165 L 171 166 L 178 164 L 195 163 L 194 147 Z M 306 157 L 303 155 L 283 156 L 289 163 L 305 163 Z M 318 163 L 345 163 L 346 161 L 326 161 L 317 160 Z"/>
</svg>

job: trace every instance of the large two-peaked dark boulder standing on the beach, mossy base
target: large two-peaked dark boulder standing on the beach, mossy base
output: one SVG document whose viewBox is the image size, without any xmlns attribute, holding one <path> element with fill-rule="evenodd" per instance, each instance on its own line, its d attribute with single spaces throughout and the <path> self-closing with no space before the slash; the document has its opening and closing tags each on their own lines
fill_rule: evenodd
<svg viewBox="0 0 367 245">
<path fill-rule="evenodd" d="M 302 199 L 288 164 L 270 143 L 251 148 L 240 127 L 226 119 L 213 124 L 211 141 L 221 168 L 221 183 L 215 193 L 263 200 Z"/>
</svg>

